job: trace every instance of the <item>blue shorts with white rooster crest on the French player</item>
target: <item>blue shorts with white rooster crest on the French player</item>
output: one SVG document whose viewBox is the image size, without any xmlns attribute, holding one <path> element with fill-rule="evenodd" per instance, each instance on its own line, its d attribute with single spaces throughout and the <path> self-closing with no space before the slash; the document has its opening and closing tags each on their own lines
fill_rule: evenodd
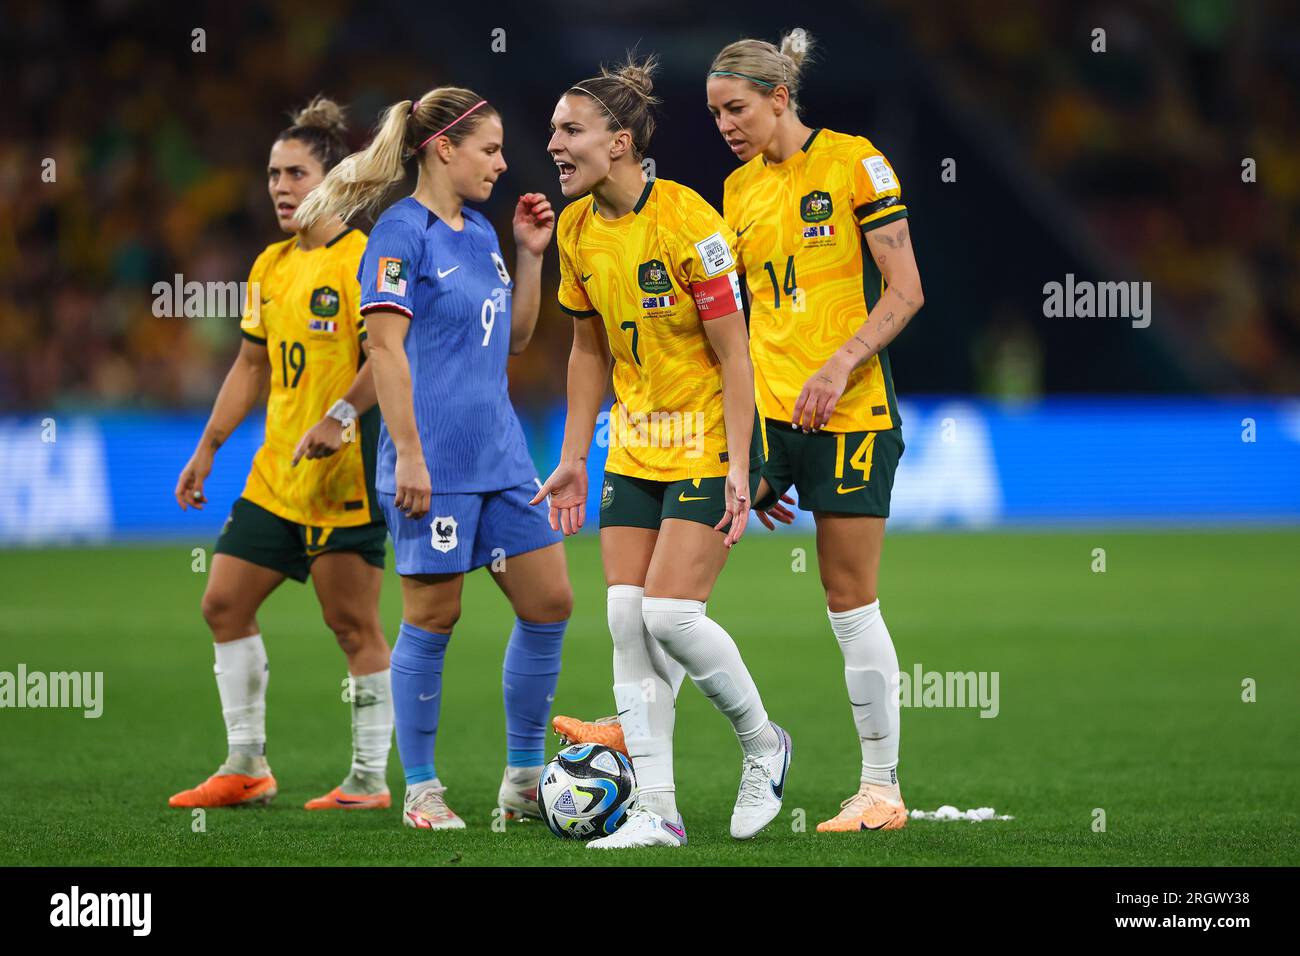
<svg viewBox="0 0 1300 956">
<path fill-rule="evenodd" d="M 434 494 L 429 514 L 419 519 L 407 518 L 393 494 L 380 492 L 398 574 L 464 574 L 563 541 L 560 532 L 551 531 L 546 499 L 528 503 L 538 488 L 541 481 L 534 479 L 503 492 Z"/>
</svg>

